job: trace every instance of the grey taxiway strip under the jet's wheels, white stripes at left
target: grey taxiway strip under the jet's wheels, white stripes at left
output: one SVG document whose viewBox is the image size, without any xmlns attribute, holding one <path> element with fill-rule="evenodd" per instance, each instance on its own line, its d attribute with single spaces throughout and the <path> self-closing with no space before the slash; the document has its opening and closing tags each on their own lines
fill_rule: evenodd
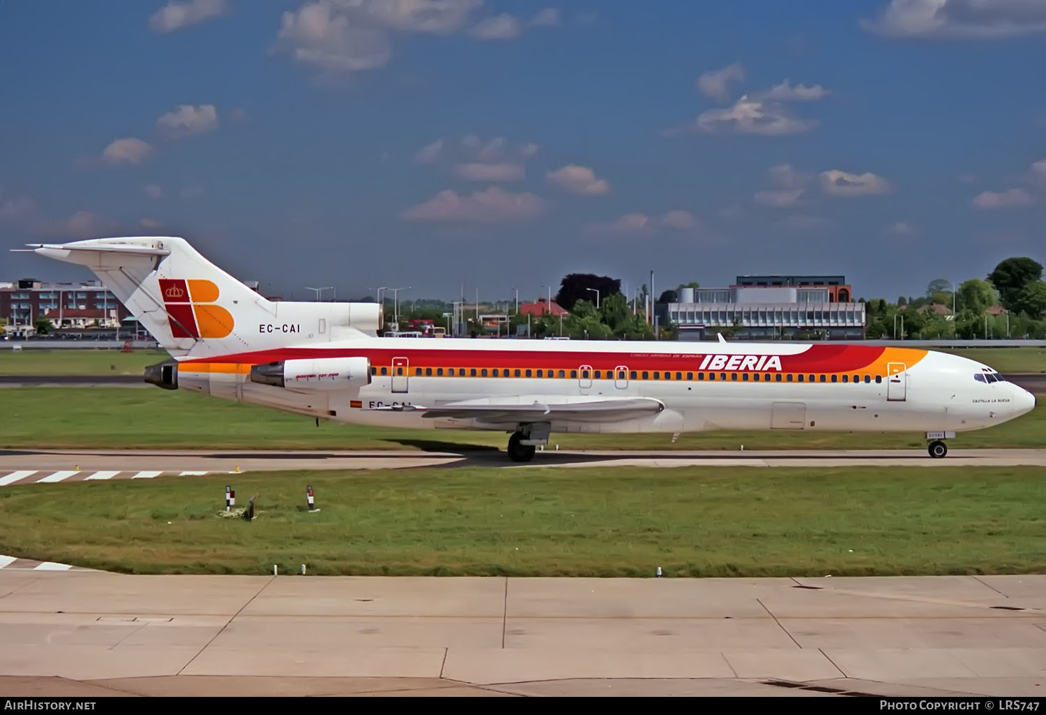
<svg viewBox="0 0 1046 715">
<path fill-rule="evenodd" d="M 780 467 L 780 466 L 1046 466 L 1046 449 L 953 449 L 933 459 L 923 449 L 792 449 L 623 452 L 538 452 L 519 464 L 499 449 L 417 451 L 157 451 L 3 449 L 0 487 L 112 479 L 203 477 L 290 469 L 404 469 L 431 466 L 535 467 Z"/>
</svg>

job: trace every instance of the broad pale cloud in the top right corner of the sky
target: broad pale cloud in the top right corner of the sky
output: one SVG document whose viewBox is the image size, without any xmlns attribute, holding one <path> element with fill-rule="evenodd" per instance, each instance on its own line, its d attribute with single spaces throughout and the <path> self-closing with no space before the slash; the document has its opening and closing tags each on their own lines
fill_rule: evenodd
<svg viewBox="0 0 1046 715">
<path fill-rule="evenodd" d="M 861 25 L 892 38 L 991 39 L 1046 31 L 1041 0 L 890 0 Z"/>
</svg>

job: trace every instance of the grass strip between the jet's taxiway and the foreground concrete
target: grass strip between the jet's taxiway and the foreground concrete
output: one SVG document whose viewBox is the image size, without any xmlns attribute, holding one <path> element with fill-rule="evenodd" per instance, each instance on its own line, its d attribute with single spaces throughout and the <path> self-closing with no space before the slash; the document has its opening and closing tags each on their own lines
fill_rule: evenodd
<svg viewBox="0 0 1046 715">
<path fill-rule="evenodd" d="M 1042 573 L 1032 467 L 270 472 L 0 489 L 0 553 L 129 573 Z M 255 520 L 221 517 L 225 485 Z M 309 513 L 312 485 L 319 511 Z"/>
</svg>

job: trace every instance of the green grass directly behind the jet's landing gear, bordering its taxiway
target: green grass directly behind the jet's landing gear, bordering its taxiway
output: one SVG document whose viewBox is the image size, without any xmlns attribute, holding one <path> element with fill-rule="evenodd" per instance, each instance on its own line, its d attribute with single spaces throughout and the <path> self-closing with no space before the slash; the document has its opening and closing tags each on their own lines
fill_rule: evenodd
<svg viewBox="0 0 1046 715">
<path fill-rule="evenodd" d="M 501 432 L 395 430 L 335 422 L 159 389 L 24 387 L 0 391 L 0 447 L 462 449 L 505 448 Z M 924 448 L 919 434 L 712 432 L 553 434 L 562 449 Z M 1046 447 L 1046 403 L 997 428 L 961 434 L 958 447 Z"/>
</svg>

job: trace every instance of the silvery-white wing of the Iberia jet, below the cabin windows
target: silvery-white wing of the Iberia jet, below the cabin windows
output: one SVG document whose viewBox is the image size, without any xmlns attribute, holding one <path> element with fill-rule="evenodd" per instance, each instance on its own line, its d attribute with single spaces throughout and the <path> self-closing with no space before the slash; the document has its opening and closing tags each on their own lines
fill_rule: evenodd
<svg viewBox="0 0 1046 715">
<path fill-rule="evenodd" d="M 432 405 L 383 407 L 394 412 L 420 412 L 425 418 L 478 419 L 491 423 L 585 421 L 616 422 L 664 410 L 652 397 L 566 397 L 564 395 L 486 397 Z"/>
</svg>

